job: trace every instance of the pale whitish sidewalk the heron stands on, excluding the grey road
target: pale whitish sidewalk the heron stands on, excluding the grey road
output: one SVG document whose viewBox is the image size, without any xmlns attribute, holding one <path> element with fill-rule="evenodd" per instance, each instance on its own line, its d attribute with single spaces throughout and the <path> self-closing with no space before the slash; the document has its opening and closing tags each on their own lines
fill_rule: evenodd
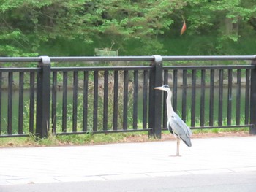
<svg viewBox="0 0 256 192">
<path fill-rule="evenodd" d="M 256 137 L 0 149 L 0 185 L 256 172 Z"/>
</svg>

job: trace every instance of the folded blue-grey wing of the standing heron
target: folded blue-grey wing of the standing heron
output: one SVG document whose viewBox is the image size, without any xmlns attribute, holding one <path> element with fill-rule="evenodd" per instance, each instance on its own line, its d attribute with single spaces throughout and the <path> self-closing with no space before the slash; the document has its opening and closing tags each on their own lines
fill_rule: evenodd
<svg viewBox="0 0 256 192">
<path fill-rule="evenodd" d="M 192 131 L 186 123 L 177 114 L 172 115 L 169 121 L 173 134 L 176 134 L 188 147 L 191 147 L 190 136 L 192 135 Z"/>
</svg>

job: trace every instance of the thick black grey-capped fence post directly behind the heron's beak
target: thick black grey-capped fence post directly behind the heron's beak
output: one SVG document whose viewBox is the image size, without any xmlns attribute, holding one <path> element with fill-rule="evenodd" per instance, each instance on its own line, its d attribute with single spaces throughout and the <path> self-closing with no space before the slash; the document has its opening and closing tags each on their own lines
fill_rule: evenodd
<svg viewBox="0 0 256 192">
<path fill-rule="evenodd" d="M 148 106 L 148 127 L 149 137 L 161 139 L 162 132 L 162 91 L 155 91 L 154 87 L 162 86 L 162 56 L 154 55 L 151 63 L 153 69 L 149 74 L 149 106 Z"/>
</svg>

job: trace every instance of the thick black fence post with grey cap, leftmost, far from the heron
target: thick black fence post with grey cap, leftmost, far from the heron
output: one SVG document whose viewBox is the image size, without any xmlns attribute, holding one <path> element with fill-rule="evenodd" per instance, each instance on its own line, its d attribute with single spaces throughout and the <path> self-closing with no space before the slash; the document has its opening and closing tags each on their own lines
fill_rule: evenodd
<svg viewBox="0 0 256 192">
<path fill-rule="evenodd" d="M 48 137 L 50 126 L 50 58 L 42 56 L 37 73 L 37 120 L 36 133 Z"/>
</svg>

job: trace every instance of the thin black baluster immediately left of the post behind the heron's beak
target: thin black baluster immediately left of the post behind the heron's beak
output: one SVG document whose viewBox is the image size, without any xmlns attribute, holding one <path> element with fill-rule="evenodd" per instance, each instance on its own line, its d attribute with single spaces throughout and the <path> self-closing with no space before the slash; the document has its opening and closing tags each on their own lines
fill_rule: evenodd
<svg viewBox="0 0 256 192">
<path fill-rule="evenodd" d="M 143 129 L 148 123 L 148 71 L 143 72 Z"/>
</svg>

